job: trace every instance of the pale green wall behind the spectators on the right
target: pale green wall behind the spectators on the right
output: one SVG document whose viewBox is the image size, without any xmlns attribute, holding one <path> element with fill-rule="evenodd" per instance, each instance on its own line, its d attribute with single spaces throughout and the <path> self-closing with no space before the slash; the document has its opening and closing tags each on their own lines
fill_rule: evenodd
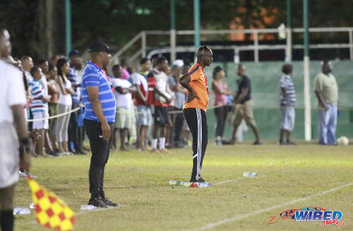
<svg viewBox="0 0 353 231">
<path fill-rule="evenodd" d="M 254 116 L 258 125 L 258 130 L 262 139 L 278 139 L 280 112 L 279 112 L 279 80 L 282 76 L 281 68 L 284 62 L 261 62 L 261 63 L 243 63 L 246 65 L 246 75 L 251 80 L 251 97 L 254 101 Z M 294 139 L 304 139 L 304 75 L 303 63 L 293 62 L 293 82 L 297 93 L 296 120 L 292 137 Z M 208 76 L 209 85 L 213 77 L 213 68 L 217 65 L 225 68 L 227 83 L 233 91 L 237 90 L 235 63 L 213 63 L 205 68 Z M 317 139 L 317 113 L 318 102 L 313 92 L 313 79 L 321 72 L 321 62 L 311 61 L 311 127 L 312 137 Z M 342 135 L 353 137 L 353 62 L 333 61 L 333 75 L 335 75 L 339 86 L 339 109 L 340 116 L 337 118 L 336 136 Z M 213 106 L 213 91 L 210 90 L 210 106 Z M 208 137 L 215 137 L 215 114 L 212 109 L 208 110 Z M 225 136 L 229 137 L 231 125 L 227 124 Z M 254 139 L 253 132 L 248 130 L 244 133 L 244 139 Z"/>
</svg>

